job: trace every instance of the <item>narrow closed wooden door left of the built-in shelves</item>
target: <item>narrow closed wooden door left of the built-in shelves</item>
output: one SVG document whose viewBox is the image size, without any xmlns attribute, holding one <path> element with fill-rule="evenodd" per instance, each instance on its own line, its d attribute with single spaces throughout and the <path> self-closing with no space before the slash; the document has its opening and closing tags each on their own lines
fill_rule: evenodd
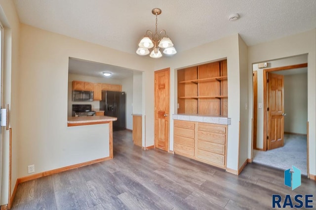
<svg viewBox="0 0 316 210">
<path fill-rule="evenodd" d="M 155 71 L 155 148 L 168 151 L 170 68 Z"/>
</svg>

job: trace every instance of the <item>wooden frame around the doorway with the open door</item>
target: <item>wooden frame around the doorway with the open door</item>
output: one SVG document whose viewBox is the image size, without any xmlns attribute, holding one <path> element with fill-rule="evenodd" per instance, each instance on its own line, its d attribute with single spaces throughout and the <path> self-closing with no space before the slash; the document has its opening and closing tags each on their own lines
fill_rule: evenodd
<svg viewBox="0 0 316 210">
<path fill-rule="evenodd" d="M 307 67 L 307 63 L 302 63 L 302 64 L 296 64 L 296 65 L 288 65 L 288 66 L 281 66 L 281 67 L 276 67 L 276 68 L 267 68 L 263 69 L 263 150 L 267 150 L 267 136 L 268 136 L 268 83 L 267 83 L 267 75 L 268 72 L 272 71 L 282 71 L 282 70 L 289 70 L 293 68 L 304 68 Z"/>
</svg>

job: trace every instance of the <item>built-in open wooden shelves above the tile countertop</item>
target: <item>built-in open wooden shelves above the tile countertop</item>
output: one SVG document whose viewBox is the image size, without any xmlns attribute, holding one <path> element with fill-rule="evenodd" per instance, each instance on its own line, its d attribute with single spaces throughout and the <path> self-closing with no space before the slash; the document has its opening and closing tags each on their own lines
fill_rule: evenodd
<svg viewBox="0 0 316 210">
<path fill-rule="evenodd" d="M 228 115 L 227 60 L 178 70 L 178 114 Z"/>
</svg>

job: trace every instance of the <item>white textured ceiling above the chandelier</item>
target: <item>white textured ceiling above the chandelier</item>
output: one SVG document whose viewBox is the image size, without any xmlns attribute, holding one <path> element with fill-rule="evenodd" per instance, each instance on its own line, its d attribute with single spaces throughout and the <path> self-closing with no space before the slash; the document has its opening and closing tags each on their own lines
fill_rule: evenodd
<svg viewBox="0 0 316 210">
<path fill-rule="evenodd" d="M 239 33 L 248 46 L 316 28 L 315 0 L 14 0 L 20 21 L 135 54 L 161 8 L 178 52 Z M 237 21 L 229 15 L 239 13 Z"/>
</svg>

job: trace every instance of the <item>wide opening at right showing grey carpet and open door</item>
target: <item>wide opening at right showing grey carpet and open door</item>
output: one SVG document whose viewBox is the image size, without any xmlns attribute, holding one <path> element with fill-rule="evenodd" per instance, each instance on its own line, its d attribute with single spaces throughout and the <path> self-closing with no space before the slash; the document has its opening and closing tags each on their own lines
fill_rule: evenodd
<svg viewBox="0 0 316 210">
<path fill-rule="evenodd" d="M 304 57 L 307 62 L 307 55 L 299 57 Z M 261 76 L 262 79 L 261 81 L 258 79 L 258 101 L 256 102 L 258 113 L 257 115 L 254 114 L 254 121 L 258 120 L 256 124 L 258 130 L 254 125 L 253 132 L 257 133 L 257 141 L 255 139 L 253 141 L 253 162 L 283 170 L 295 165 L 301 169 L 302 174 L 308 175 L 307 63 L 275 67 L 276 65 L 273 62 L 268 62 L 270 66 L 267 69 L 259 69 L 261 72 L 258 71 L 258 78 Z M 278 64 L 282 63 L 277 62 Z M 286 64 L 285 61 L 283 63 Z M 254 67 L 253 70 L 255 69 Z M 267 78 L 271 75 L 268 76 L 268 73 L 272 73 L 276 77 L 284 77 L 284 95 L 277 94 L 277 96 L 284 96 L 284 103 L 276 103 L 280 108 L 277 114 L 278 120 L 272 120 L 271 113 L 268 111 L 268 108 L 270 111 L 272 108 L 271 103 L 269 105 L 271 96 L 269 97 L 269 83 L 267 83 Z M 255 82 L 253 85 L 255 85 Z M 254 91 L 254 103 L 255 94 Z M 283 110 L 281 109 L 282 105 L 284 105 Z M 284 120 L 284 123 L 282 120 Z M 277 123 L 273 124 L 273 122 L 277 122 L 279 125 Z M 303 124 L 304 126 L 302 126 Z M 275 127 L 274 129 L 272 129 L 272 125 Z M 283 134 L 284 146 L 282 146 L 281 141 L 278 141 L 283 140 L 281 138 Z M 269 140 L 274 140 L 273 143 L 277 145 L 275 148 L 279 148 L 274 149 Z"/>
</svg>

